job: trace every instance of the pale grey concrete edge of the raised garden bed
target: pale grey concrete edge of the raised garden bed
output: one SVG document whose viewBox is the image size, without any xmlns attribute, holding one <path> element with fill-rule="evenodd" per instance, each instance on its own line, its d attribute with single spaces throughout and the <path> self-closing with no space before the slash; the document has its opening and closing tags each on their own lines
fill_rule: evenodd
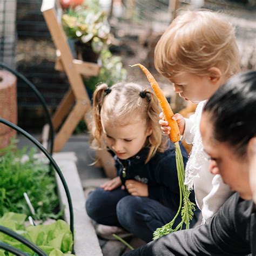
<svg viewBox="0 0 256 256">
<path fill-rule="evenodd" d="M 63 173 L 72 199 L 75 229 L 75 253 L 77 256 L 102 256 L 103 254 L 99 246 L 95 228 L 85 211 L 84 191 L 78 176 L 74 153 L 55 153 L 54 159 Z M 65 205 L 65 220 L 69 223 L 70 214 L 68 199 L 66 198 L 64 187 L 57 174 L 56 180 L 60 201 Z"/>
</svg>

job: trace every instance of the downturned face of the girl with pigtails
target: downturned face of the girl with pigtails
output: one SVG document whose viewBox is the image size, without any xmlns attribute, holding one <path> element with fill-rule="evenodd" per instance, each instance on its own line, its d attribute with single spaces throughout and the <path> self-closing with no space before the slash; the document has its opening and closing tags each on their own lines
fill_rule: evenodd
<svg viewBox="0 0 256 256">
<path fill-rule="evenodd" d="M 135 156 L 145 145 L 147 136 L 152 133 L 145 120 L 134 119 L 127 125 L 110 124 L 102 117 L 103 133 L 106 145 L 120 159 Z"/>
</svg>

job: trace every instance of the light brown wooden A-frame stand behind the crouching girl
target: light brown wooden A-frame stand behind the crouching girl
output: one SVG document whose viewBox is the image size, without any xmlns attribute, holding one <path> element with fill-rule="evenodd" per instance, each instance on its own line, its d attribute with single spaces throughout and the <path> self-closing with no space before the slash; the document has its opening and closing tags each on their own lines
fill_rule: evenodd
<svg viewBox="0 0 256 256">
<path fill-rule="evenodd" d="M 64 71 L 70 83 L 70 89 L 61 100 L 53 114 L 53 129 L 58 130 L 54 140 L 54 152 L 62 150 L 80 120 L 84 120 L 90 127 L 91 100 L 85 90 L 82 75 L 85 77 L 97 76 L 100 66 L 96 63 L 83 62 L 73 59 L 66 35 L 62 29 L 60 18 L 62 9 L 58 0 L 43 0 L 41 6 L 45 22 L 56 47 L 55 69 Z M 48 126 L 44 127 L 43 137 L 48 133 Z M 116 170 L 112 156 L 106 150 L 96 152 L 100 165 L 104 168 L 107 177 L 115 177 Z"/>
</svg>

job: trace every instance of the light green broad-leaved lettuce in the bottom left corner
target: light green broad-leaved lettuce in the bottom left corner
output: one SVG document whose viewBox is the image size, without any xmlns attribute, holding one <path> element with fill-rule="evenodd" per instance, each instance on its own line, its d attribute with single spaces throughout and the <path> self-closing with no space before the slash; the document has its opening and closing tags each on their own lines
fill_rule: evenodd
<svg viewBox="0 0 256 256">
<path fill-rule="evenodd" d="M 0 219 L 0 225 L 10 228 L 11 230 L 23 235 L 26 239 L 32 241 L 50 256 L 71 256 L 72 251 L 72 233 L 69 225 L 64 220 L 57 220 L 50 225 L 37 225 L 25 227 L 25 214 L 8 212 Z M 36 256 L 30 248 L 21 242 L 9 237 L 4 233 L 0 233 L 0 240 L 14 246 L 31 256 Z M 64 254 L 65 253 L 65 254 Z M 0 250 L 0 255 L 13 255 L 11 253 Z"/>
</svg>

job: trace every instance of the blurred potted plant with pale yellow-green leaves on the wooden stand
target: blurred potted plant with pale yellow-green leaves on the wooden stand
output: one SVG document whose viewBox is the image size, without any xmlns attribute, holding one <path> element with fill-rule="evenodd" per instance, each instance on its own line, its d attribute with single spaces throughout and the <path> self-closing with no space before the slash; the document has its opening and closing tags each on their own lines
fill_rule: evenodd
<svg viewBox="0 0 256 256">
<path fill-rule="evenodd" d="M 62 15 L 63 29 L 73 39 L 78 59 L 96 62 L 100 52 L 111 43 L 110 25 L 99 4 L 93 3 L 69 8 Z"/>
</svg>

